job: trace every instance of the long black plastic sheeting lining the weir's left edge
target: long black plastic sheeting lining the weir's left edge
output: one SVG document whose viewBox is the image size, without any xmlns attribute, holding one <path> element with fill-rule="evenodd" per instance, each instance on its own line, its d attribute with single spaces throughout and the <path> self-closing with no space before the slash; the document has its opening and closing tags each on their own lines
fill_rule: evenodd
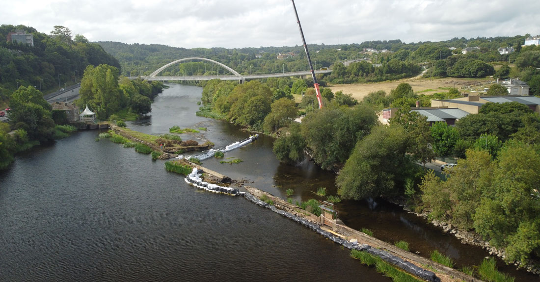
<svg viewBox="0 0 540 282">
<path fill-rule="evenodd" d="M 415 275 L 417 277 L 428 280 L 430 282 L 440 282 L 441 281 L 440 278 L 435 276 L 435 273 L 433 271 L 422 269 L 422 267 L 416 266 L 416 265 L 414 265 L 414 264 L 412 264 L 410 262 L 406 262 L 402 258 L 396 257 L 394 255 L 390 255 L 390 253 L 388 253 L 386 251 L 383 251 L 383 250 L 380 250 L 380 249 L 376 249 L 376 248 L 374 248 L 374 247 L 372 247 L 370 245 L 350 243 L 349 241 L 347 241 L 345 239 L 342 239 L 342 238 L 340 238 L 338 236 L 335 236 L 334 234 L 332 234 L 332 233 L 330 233 L 328 231 L 322 230 L 318 224 L 313 223 L 313 222 L 309 222 L 309 221 L 307 221 L 306 219 L 304 219 L 302 217 L 295 216 L 295 215 L 291 214 L 291 212 L 284 211 L 284 210 L 279 210 L 274 205 L 269 205 L 269 204 L 259 200 L 259 198 L 253 196 L 250 193 L 244 194 L 244 197 L 246 197 L 249 201 L 252 201 L 253 203 L 260 205 L 261 207 L 271 209 L 272 211 L 277 212 L 278 214 L 280 214 L 282 216 L 291 218 L 293 221 L 298 222 L 298 223 L 312 229 L 313 231 L 319 233 L 320 235 L 325 236 L 326 238 L 328 238 L 330 240 L 333 240 L 335 243 L 338 243 L 338 244 L 341 244 L 341 245 L 345 246 L 347 249 L 351 249 L 351 250 L 354 249 L 354 250 L 368 252 L 371 255 L 380 257 L 385 262 L 391 263 L 391 264 L 393 264 L 393 265 L 395 265 L 397 267 L 400 267 L 400 269 L 402 269 L 402 270 L 404 270 L 404 271 L 406 271 L 408 273 L 411 273 L 411 274 L 413 274 L 413 275 Z"/>
</svg>

